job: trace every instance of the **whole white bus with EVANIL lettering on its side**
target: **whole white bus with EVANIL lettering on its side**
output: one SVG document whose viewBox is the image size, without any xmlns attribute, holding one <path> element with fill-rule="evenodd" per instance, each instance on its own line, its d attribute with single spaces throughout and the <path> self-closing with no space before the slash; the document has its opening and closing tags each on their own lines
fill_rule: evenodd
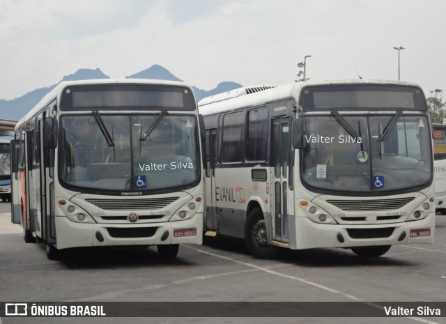
<svg viewBox="0 0 446 324">
<path fill-rule="evenodd" d="M 258 92 L 256 92 L 258 90 Z M 302 82 L 204 98 L 206 234 L 380 256 L 433 243 L 431 127 L 416 84 Z"/>
</svg>

